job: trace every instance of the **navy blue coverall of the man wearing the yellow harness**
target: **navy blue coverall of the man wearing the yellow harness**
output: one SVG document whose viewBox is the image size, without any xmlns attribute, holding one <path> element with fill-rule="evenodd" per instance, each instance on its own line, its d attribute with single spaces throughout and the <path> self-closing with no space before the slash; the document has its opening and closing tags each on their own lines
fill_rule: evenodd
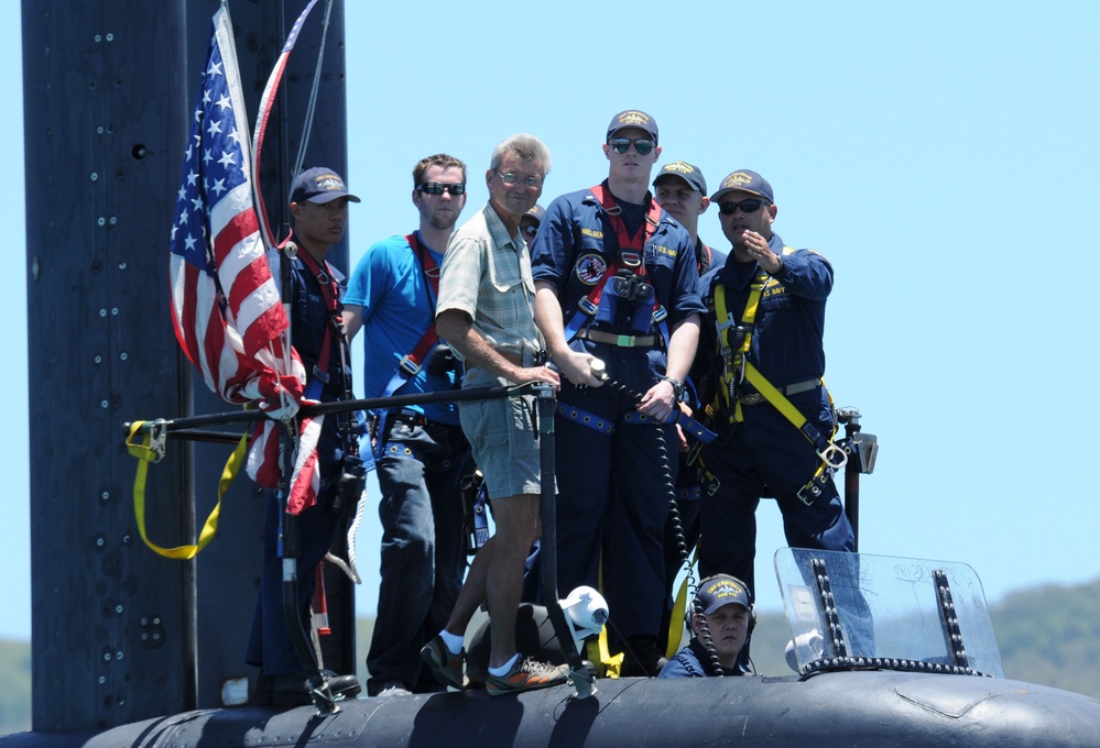
<svg viewBox="0 0 1100 748">
<path fill-rule="evenodd" d="M 804 392 L 787 397 L 799 413 L 827 438 L 834 432 L 834 413 L 820 378 L 825 374 L 825 302 L 832 289 L 832 266 L 812 250 L 784 253 L 783 240 L 773 234 L 769 248 L 782 255 L 783 266 L 771 277 L 760 298 L 755 322 L 750 328 L 747 359 L 775 387 L 817 380 Z M 701 326 L 699 353 L 694 372 L 714 382 L 725 371 L 718 352 L 715 288 L 726 286 L 726 308 L 741 324 L 750 285 L 760 272 L 756 263 L 740 263 L 731 255 L 722 268 L 703 279 L 708 312 Z M 703 371 L 705 367 L 705 371 Z M 717 386 L 723 384 L 719 381 Z M 831 477 L 810 505 L 798 491 L 813 479 L 820 459 L 814 444 L 766 402 L 742 383 L 740 394 L 744 421 L 730 424 L 720 413 L 714 429 L 719 438 L 703 448 L 703 461 L 712 476 L 703 495 L 699 574 L 732 574 L 755 590 L 753 560 L 756 548 L 755 510 L 760 499 L 771 497 L 783 513 L 783 528 L 793 548 L 853 551 L 851 525 Z M 744 404 L 748 400 L 750 404 Z"/>
</svg>

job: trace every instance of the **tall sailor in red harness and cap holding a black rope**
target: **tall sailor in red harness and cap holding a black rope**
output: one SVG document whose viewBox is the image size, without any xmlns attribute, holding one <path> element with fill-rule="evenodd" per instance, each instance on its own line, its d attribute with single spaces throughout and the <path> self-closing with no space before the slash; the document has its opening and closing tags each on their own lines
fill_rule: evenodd
<svg viewBox="0 0 1100 748">
<path fill-rule="evenodd" d="M 554 200 L 531 250 L 535 320 L 567 380 L 555 424 L 558 582 L 597 586 L 602 559 L 627 675 L 660 670 L 663 537 L 678 446 L 667 421 L 704 311 L 691 238 L 649 193 L 656 143 L 649 114 L 612 119 L 608 179 Z M 593 359 L 641 400 L 599 386 Z"/>
</svg>

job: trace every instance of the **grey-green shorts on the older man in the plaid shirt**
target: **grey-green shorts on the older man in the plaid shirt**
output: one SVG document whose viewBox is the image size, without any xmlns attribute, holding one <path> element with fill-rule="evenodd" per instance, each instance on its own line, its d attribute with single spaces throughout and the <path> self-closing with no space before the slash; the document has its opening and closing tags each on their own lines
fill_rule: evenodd
<svg viewBox="0 0 1100 748">
<path fill-rule="evenodd" d="M 508 384 L 503 377 L 472 367 L 466 372 L 462 388 Z M 532 419 L 536 407 L 534 395 L 458 404 L 462 431 L 473 450 L 473 460 L 484 475 L 490 499 L 537 495 L 542 490 L 538 435 Z"/>
</svg>

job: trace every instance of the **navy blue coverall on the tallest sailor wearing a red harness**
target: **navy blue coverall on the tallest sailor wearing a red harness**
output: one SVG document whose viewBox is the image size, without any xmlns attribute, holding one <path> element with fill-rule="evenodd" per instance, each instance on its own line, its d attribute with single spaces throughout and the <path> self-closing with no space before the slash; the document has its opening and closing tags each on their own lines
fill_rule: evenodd
<svg viewBox="0 0 1100 748">
<path fill-rule="evenodd" d="M 603 187 L 608 189 L 606 182 Z M 651 199 L 647 195 L 647 204 Z M 557 289 L 567 339 L 577 324 L 574 315 L 584 314 L 578 302 L 606 283 L 618 254 L 616 231 L 591 190 L 564 195 L 546 209 L 531 248 L 532 273 L 536 282 Z M 574 350 L 603 360 L 609 378 L 636 394 L 649 391 L 665 373 L 662 331 L 704 311 L 695 248 L 686 229 L 662 213 L 642 254 L 655 298 L 667 310 L 665 326 L 652 322 L 652 301 L 634 315 L 638 305 L 605 294 L 600 312 L 586 316 L 585 327 L 641 334 L 653 342 L 634 346 L 580 338 L 570 342 Z M 675 426 L 643 421 L 636 405 L 634 397 L 611 386 L 577 387 L 563 377 L 555 419 L 559 590 L 598 587 L 602 554 L 603 588 L 624 638 L 653 636 L 660 627 L 665 520 L 677 466 Z"/>
</svg>

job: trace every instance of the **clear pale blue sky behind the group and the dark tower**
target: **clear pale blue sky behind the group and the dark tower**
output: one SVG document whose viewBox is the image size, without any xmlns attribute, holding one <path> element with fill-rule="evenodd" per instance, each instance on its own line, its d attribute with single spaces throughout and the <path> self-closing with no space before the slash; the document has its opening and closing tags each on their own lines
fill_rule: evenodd
<svg viewBox="0 0 1100 748">
<path fill-rule="evenodd" d="M 18 3 L 0 26 L 15 116 Z M 381 7 L 380 7 L 381 6 Z M 351 260 L 414 228 L 411 169 L 445 151 L 470 167 L 464 219 L 487 194 L 492 147 L 526 131 L 554 155 L 543 202 L 607 175 L 617 111 L 654 116 L 658 164 L 701 167 L 711 187 L 762 173 L 775 230 L 836 270 L 827 380 L 881 443 L 862 483 L 861 551 L 963 561 L 995 602 L 1100 576 L 1092 345 L 1100 276 L 1092 32 L 1087 2 L 682 2 L 553 6 L 347 2 Z M 323 102 L 322 102 L 322 106 Z M 183 144 L 181 144 L 182 147 Z M 22 163 L 0 195 L 10 272 L 25 278 Z M 166 195 L 165 199 L 172 199 Z M 710 244 L 728 244 L 711 209 Z M 25 350 L 25 282 L 0 300 L 0 345 Z M 18 322 L 18 323 L 17 323 Z M 165 336 L 171 336 L 165 330 Z M 361 361 L 361 352 L 358 354 Z M 26 372 L 8 384 L 26 392 Z M 8 517 L 0 528 L 13 615 L 30 634 L 29 455 L 12 403 Z M 375 605 L 372 522 L 360 534 L 360 613 Z M 756 579 L 777 608 L 774 503 L 758 510 Z M 20 613 L 25 612 L 25 613 Z M 613 612 L 612 612 L 613 615 Z"/>
</svg>

